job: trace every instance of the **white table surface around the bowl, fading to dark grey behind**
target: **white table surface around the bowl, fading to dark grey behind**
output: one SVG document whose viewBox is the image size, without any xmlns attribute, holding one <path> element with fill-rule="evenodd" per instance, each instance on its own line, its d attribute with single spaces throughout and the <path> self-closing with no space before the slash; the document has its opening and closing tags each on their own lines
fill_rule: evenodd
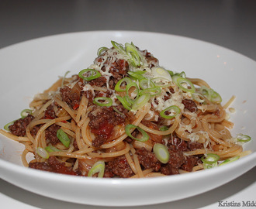
<svg viewBox="0 0 256 209">
<path fill-rule="evenodd" d="M 0 48 L 60 33 L 106 29 L 139 30 L 201 39 L 256 60 L 255 22 L 254 0 L 2 0 Z M 129 208 L 224 208 L 220 201 L 240 203 L 240 208 L 247 208 L 243 207 L 243 201 L 254 201 L 255 206 L 248 208 L 255 208 L 255 176 L 256 167 L 222 187 L 195 197 Z M 1 179 L 0 192 L 0 208 L 103 208 L 32 194 Z"/>
</svg>

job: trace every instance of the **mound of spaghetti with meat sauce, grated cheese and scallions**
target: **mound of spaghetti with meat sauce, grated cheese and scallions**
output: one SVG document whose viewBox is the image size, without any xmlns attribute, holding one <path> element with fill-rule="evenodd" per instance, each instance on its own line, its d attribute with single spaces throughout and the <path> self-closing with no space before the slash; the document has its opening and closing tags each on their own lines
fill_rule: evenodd
<svg viewBox="0 0 256 209">
<path fill-rule="evenodd" d="M 0 132 L 22 143 L 22 163 L 38 170 L 123 178 L 188 173 L 247 154 L 229 131 L 234 97 L 221 101 L 206 81 L 165 70 L 133 43 L 112 41 L 88 69 L 37 94 L 32 112 Z M 27 162 L 29 152 L 34 159 Z"/>
</svg>

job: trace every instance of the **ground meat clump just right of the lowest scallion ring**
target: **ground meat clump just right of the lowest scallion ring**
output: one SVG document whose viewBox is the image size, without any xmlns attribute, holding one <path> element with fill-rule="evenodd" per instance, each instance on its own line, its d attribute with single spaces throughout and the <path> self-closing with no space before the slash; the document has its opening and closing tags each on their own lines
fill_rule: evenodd
<svg viewBox="0 0 256 209">
<path fill-rule="evenodd" d="M 125 156 L 119 156 L 107 163 L 106 170 L 107 175 L 111 175 L 110 173 L 112 173 L 121 178 L 128 178 L 134 174 Z"/>
</svg>

